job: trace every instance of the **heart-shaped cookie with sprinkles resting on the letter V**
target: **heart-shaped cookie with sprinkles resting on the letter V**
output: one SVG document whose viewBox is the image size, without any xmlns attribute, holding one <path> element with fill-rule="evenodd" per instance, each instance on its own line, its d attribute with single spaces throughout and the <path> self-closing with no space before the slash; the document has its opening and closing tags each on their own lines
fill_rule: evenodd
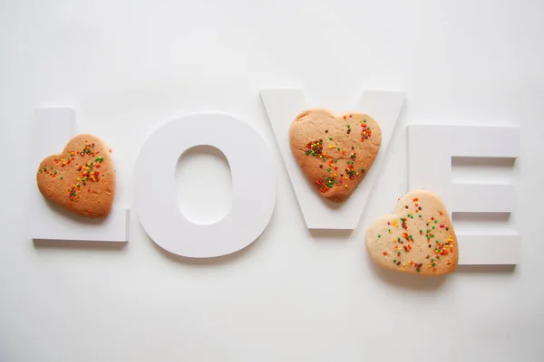
<svg viewBox="0 0 544 362">
<path fill-rule="evenodd" d="M 335 117 L 328 110 L 306 110 L 291 123 L 289 140 L 307 179 L 325 198 L 342 203 L 374 163 L 382 130 L 364 113 Z"/>
</svg>

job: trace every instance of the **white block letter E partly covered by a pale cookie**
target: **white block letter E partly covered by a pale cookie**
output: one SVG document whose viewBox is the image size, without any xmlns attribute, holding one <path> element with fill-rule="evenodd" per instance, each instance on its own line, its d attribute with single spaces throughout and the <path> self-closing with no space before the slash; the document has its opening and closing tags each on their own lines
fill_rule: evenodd
<svg viewBox="0 0 544 362">
<path fill-rule="evenodd" d="M 452 213 L 512 213 L 516 190 L 511 183 L 453 182 L 452 157 L 517 158 L 520 129 L 410 125 L 408 188 L 425 188 L 441 195 Z M 481 165 L 485 167 L 485 164 Z M 459 263 L 517 264 L 520 237 L 517 233 L 467 234 L 456 229 Z"/>
</svg>

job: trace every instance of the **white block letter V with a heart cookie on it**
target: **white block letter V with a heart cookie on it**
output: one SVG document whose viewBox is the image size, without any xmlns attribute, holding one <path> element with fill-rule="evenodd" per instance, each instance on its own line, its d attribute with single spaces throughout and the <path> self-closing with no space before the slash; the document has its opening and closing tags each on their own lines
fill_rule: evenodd
<svg viewBox="0 0 544 362">
<path fill-rule="evenodd" d="M 308 229 L 345 229 L 354 230 L 359 224 L 368 196 L 372 192 L 375 180 L 379 177 L 384 163 L 389 141 L 403 109 L 404 93 L 399 91 L 366 91 L 358 106 L 353 111 L 370 114 L 382 129 L 382 145 L 374 160 L 374 164 L 364 180 L 344 204 L 338 205 L 325 200 L 316 189 L 309 185 L 302 169 L 293 157 L 289 146 L 289 128 L 296 116 L 311 108 L 328 108 L 308 106 L 304 95 L 298 89 L 260 90 L 261 98 L 267 109 L 268 119 L 274 129 L 277 147 L 283 157 L 287 173 L 295 190 L 296 199 L 306 221 Z M 336 114 L 352 110 L 334 111 Z M 284 168 L 285 169 L 285 168 Z"/>
</svg>

